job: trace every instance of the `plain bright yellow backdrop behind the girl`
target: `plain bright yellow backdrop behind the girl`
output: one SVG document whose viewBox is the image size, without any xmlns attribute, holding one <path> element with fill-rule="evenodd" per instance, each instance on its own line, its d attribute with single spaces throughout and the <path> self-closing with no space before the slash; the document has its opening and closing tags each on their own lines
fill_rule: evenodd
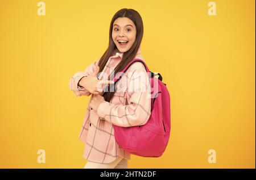
<svg viewBox="0 0 256 180">
<path fill-rule="evenodd" d="M 0 1 L 0 168 L 84 167 L 89 97 L 68 82 L 102 56 L 122 8 L 141 14 L 142 56 L 171 95 L 166 152 L 128 168 L 255 168 L 255 1 L 214 1 L 216 16 L 204 0 L 48 0 L 46 16 L 38 2 Z"/>
</svg>

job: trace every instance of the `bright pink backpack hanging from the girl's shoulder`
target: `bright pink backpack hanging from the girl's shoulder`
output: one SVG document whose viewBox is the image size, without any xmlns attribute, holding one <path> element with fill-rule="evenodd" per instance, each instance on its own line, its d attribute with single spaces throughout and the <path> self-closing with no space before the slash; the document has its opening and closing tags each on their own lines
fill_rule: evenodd
<svg viewBox="0 0 256 180">
<path fill-rule="evenodd" d="M 171 107 L 170 95 L 166 84 L 162 82 L 160 73 L 154 74 L 148 70 L 147 65 L 141 59 L 133 59 L 122 70 L 123 73 L 134 62 L 142 62 L 146 71 L 150 74 L 151 83 L 151 115 L 144 125 L 133 127 L 119 127 L 113 125 L 114 136 L 118 145 L 131 154 L 143 157 L 162 156 L 171 130 Z M 114 82 L 119 80 L 122 73 L 117 73 Z M 159 75 L 158 78 L 155 76 Z M 155 85 L 155 87 L 154 87 Z M 156 87 L 158 86 L 158 87 Z"/>
</svg>

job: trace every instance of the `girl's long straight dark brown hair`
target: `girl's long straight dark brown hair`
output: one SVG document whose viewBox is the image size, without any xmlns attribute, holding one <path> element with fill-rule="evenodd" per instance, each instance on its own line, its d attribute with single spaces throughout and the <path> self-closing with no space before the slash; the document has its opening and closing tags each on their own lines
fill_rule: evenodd
<svg viewBox="0 0 256 180">
<path fill-rule="evenodd" d="M 125 68 L 125 66 L 131 60 L 133 60 L 133 58 L 135 57 L 135 55 L 141 45 L 141 41 L 142 41 L 142 37 L 143 37 L 143 22 L 142 22 L 141 15 L 139 15 L 139 12 L 137 12 L 133 9 L 121 9 L 121 10 L 117 11 L 114 14 L 114 16 L 110 22 L 109 47 L 108 47 L 108 49 L 106 49 L 104 55 L 102 55 L 102 57 L 100 58 L 100 61 L 98 63 L 98 66 L 100 66 L 100 72 L 102 72 L 102 70 L 104 69 L 104 67 L 106 65 L 106 62 L 108 62 L 108 60 L 109 60 L 109 57 L 113 56 L 114 50 L 117 48 L 112 39 L 113 23 L 114 23 L 115 19 L 122 18 L 122 17 L 129 18 L 130 20 L 133 21 L 133 23 L 135 24 L 135 27 L 136 27 L 136 37 L 135 37 L 135 41 L 134 41 L 133 45 L 131 46 L 131 48 L 129 49 L 129 51 L 123 53 L 122 60 L 114 68 L 115 74 L 117 74 L 118 72 L 121 72 L 121 70 L 123 68 Z M 110 75 L 111 74 L 109 74 L 109 77 L 108 77 L 109 80 L 110 80 Z M 105 101 L 110 102 L 111 99 L 113 98 L 113 95 L 114 95 L 114 91 L 108 91 L 108 92 L 104 93 L 103 96 L 104 96 Z"/>
</svg>

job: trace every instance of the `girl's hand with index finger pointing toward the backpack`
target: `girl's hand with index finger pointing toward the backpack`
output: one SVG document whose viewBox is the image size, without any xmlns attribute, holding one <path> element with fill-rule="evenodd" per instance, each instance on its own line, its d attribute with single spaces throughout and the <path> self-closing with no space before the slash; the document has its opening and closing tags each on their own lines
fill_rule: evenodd
<svg viewBox="0 0 256 180">
<path fill-rule="evenodd" d="M 88 90 L 91 94 L 98 95 L 102 93 L 102 91 L 105 89 L 105 87 L 108 84 L 114 83 L 114 81 L 108 81 L 108 80 L 99 80 L 97 78 L 97 74 L 100 71 L 100 67 L 97 66 L 96 70 L 92 74 L 90 74 L 87 77 L 83 77 L 79 84 L 84 87 L 86 90 Z"/>
</svg>

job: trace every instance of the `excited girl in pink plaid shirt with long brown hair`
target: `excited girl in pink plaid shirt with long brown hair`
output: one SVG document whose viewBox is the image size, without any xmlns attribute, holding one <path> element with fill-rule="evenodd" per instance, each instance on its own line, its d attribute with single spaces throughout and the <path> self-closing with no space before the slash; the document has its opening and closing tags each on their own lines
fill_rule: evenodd
<svg viewBox="0 0 256 180">
<path fill-rule="evenodd" d="M 115 141 L 113 125 L 143 125 L 150 118 L 150 82 L 141 62 L 134 62 L 127 69 L 114 84 L 114 90 L 105 89 L 131 60 L 143 60 L 142 37 L 141 15 L 133 9 L 119 10 L 110 23 L 109 47 L 104 55 L 69 81 L 69 88 L 77 97 L 91 95 L 80 132 L 80 139 L 86 144 L 84 168 L 127 168 L 131 154 Z"/>
</svg>

